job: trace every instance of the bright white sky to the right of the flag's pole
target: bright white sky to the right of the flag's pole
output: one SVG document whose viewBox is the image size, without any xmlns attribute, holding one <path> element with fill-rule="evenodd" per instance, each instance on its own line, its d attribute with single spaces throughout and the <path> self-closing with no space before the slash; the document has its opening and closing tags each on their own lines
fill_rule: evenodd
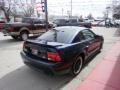
<svg viewBox="0 0 120 90">
<path fill-rule="evenodd" d="M 47 1 L 50 15 L 67 15 L 67 12 L 71 10 L 71 0 Z M 106 6 L 110 5 L 112 0 L 72 0 L 72 2 L 72 15 L 87 16 L 91 13 L 94 17 L 101 17 L 103 16 Z"/>
</svg>

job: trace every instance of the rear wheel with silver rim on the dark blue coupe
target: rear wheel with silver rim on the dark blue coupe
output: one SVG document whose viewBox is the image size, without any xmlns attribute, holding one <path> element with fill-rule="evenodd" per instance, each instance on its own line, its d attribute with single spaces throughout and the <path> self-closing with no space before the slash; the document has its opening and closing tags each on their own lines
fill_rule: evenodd
<svg viewBox="0 0 120 90">
<path fill-rule="evenodd" d="M 83 66 L 83 59 L 79 56 L 72 65 L 71 74 L 76 76 L 80 73 Z"/>
</svg>

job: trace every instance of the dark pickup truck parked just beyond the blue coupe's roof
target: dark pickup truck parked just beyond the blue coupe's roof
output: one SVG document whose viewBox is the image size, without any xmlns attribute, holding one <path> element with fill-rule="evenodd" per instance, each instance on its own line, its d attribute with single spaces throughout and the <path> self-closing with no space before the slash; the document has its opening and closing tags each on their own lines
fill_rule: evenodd
<svg viewBox="0 0 120 90">
<path fill-rule="evenodd" d="M 80 22 L 78 19 L 56 19 L 53 23 L 55 26 L 83 26 L 91 28 L 91 23 Z"/>
</svg>

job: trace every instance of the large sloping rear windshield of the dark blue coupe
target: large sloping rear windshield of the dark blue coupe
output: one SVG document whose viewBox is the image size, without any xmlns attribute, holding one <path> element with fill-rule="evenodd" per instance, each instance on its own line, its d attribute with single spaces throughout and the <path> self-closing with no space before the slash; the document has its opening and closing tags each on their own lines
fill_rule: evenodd
<svg viewBox="0 0 120 90">
<path fill-rule="evenodd" d="M 59 43 L 71 43 L 74 33 L 69 30 L 50 30 L 38 37 L 39 40 Z"/>
</svg>

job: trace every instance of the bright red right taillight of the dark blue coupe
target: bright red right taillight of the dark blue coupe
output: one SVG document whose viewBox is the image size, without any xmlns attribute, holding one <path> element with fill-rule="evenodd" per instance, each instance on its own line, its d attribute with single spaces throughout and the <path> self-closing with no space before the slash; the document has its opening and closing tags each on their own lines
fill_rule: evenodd
<svg viewBox="0 0 120 90">
<path fill-rule="evenodd" d="M 55 62 L 61 61 L 61 57 L 59 53 L 56 53 L 56 52 L 47 52 L 47 58 L 48 60 L 55 61 Z"/>
</svg>

